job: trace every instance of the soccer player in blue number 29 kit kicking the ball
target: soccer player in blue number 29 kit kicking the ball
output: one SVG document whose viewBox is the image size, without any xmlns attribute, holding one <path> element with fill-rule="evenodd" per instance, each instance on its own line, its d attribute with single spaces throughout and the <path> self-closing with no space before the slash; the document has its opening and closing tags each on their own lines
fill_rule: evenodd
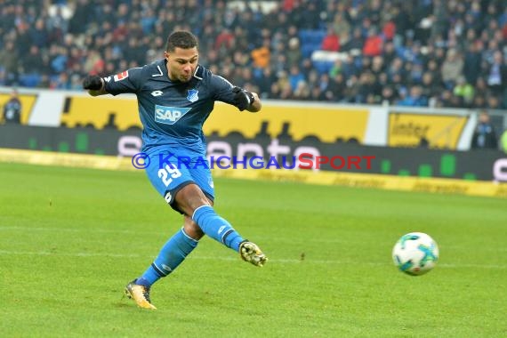
<svg viewBox="0 0 507 338">
<path fill-rule="evenodd" d="M 92 96 L 136 94 L 143 125 L 142 151 L 160 162 L 146 168 L 149 181 L 184 215 L 181 230 L 169 238 L 149 268 L 125 287 L 125 294 L 141 308 L 153 310 L 150 287 L 173 272 L 204 235 L 237 251 L 246 262 L 262 267 L 268 261 L 259 246 L 215 213 L 213 179 L 207 160 L 203 161 L 202 126 L 214 101 L 257 112 L 262 107 L 259 96 L 199 65 L 197 38 L 188 31 L 176 31 L 167 38 L 164 57 L 115 76 L 86 76 L 83 81 Z M 181 158 L 187 159 L 187 165 L 181 165 Z"/>
</svg>

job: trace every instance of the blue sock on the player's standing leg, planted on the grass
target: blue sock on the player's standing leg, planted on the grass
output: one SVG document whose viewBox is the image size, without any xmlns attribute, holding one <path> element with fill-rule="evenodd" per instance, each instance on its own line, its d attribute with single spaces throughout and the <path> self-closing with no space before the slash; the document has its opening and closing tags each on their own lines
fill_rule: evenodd
<svg viewBox="0 0 507 338">
<path fill-rule="evenodd" d="M 136 284 L 151 286 L 158 279 L 169 275 L 196 248 L 197 243 L 181 228 L 165 243 L 148 270 L 144 271 L 141 278 L 137 278 Z"/>
</svg>

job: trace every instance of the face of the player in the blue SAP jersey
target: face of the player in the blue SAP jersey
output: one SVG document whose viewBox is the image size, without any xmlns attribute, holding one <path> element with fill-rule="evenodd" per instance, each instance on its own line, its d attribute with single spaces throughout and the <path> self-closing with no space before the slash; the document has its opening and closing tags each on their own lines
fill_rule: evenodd
<svg viewBox="0 0 507 338">
<path fill-rule="evenodd" d="M 164 52 L 164 56 L 171 81 L 189 82 L 197 68 L 199 58 L 197 47 L 189 49 L 176 47 L 174 52 Z"/>
</svg>

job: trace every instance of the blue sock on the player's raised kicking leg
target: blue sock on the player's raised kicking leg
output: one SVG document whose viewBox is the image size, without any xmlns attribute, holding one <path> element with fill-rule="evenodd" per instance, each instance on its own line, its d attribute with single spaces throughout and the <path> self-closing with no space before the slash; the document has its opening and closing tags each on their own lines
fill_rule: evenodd
<svg viewBox="0 0 507 338">
<path fill-rule="evenodd" d="M 243 237 L 239 236 L 235 229 L 232 229 L 229 221 L 225 221 L 216 214 L 212 206 L 199 206 L 192 215 L 192 220 L 207 236 L 237 252 L 239 251 L 239 244 L 243 241 Z"/>
</svg>

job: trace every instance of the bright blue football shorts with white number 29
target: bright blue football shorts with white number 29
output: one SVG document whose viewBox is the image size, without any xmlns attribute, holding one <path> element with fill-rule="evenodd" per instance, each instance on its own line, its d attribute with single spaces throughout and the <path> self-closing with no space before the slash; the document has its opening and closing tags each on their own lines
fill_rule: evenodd
<svg viewBox="0 0 507 338">
<path fill-rule="evenodd" d="M 170 148 L 155 149 L 148 153 L 149 165 L 145 168 L 149 181 L 174 210 L 174 198 L 181 188 L 191 183 L 203 190 L 205 196 L 214 200 L 213 178 L 205 156 L 189 155 Z"/>
</svg>

